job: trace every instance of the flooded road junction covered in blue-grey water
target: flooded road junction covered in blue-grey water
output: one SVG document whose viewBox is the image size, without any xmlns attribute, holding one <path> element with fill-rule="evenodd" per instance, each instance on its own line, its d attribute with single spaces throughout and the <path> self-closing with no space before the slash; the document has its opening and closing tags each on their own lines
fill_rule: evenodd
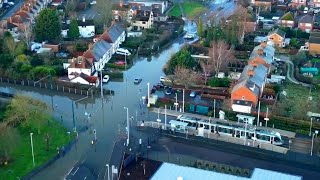
<svg viewBox="0 0 320 180">
<path fill-rule="evenodd" d="M 195 24 L 187 24 L 188 29 L 195 29 Z M 192 27 L 193 26 L 193 27 Z M 55 92 L 41 89 L 35 91 L 31 87 L 0 86 L 0 91 L 22 93 L 30 95 L 52 106 L 55 118 L 62 122 L 70 131 L 74 128 L 79 132 L 79 140 L 75 147 L 65 157 L 41 171 L 33 179 L 62 179 L 77 166 L 80 167 L 75 174 L 77 178 L 103 179 L 106 163 L 109 162 L 114 143 L 120 137 L 126 137 L 126 110 L 129 109 L 129 117 L 133 117 L 131 124 L 136 120 L 155 121 L 157 114 L 149 113 L 142 104 L 142 96 L 147 94 L 147 83 L 159 82 L 159 77 L 164 75 L 162 68 L 170 56 L 182 47 L 183 39 L 177 40 L 168 49 L 152 57 L 134 58 L 134 66 L 124 73 L 123 82 L 109 82 L 105 89 L 115 92 L 114 96 L 88 97 L 74 103 L 82 97 L 70 97 L 54 94 Z M 134 78 L 142 78 L 139 85 L 133 83 Z M 73 118 L 74 113 L 74 118 Z M 89 115 L 90 114 L 90 115 Z M 160 115 L 160 119 L 164 119 Z M 90 144 L 94 139 L 93 130 L 96 131 L 97 145 L 93 149 Z M 134 133 L 134 132 L 133 132 Z M 77 175 L 77 177 L 76 177 Z"/>
</svg>

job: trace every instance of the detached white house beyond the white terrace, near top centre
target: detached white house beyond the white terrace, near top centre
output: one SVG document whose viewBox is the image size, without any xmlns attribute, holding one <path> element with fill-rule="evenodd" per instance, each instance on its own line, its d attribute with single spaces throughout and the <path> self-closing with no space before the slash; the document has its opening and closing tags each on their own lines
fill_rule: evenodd
<svg viewBox="0 0 320 180">
<path fill-rule="evenodd" d="M 134 17 L 131 20 L 134 30 L 150 29 L 153 27 L 154 17 L 152 11 L 141 17 Z"/>
</svg>

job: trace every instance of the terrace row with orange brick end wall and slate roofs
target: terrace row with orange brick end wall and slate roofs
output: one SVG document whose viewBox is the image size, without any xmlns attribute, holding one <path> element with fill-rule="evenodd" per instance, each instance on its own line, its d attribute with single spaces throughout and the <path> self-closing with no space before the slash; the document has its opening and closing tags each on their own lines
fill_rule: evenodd
<svg viewBox="0 0 320 180">
<path fill-rule="evenodd" d="M 233 111 L 251 113 L 256 108 L 270 72 L 274 51 L 275 49 L 266 42 L 253 49 L 248 65 L 231 91 Z"/>
</svg>

